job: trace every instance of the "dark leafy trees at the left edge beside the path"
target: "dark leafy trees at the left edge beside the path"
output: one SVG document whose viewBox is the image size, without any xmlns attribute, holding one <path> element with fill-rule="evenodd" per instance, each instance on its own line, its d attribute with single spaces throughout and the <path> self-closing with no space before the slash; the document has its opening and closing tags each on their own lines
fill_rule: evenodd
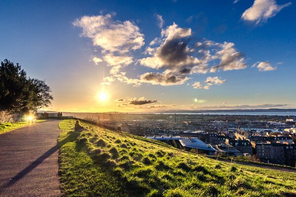
<svg viewBox="0 0 296 197">
<path fill-rule="evenodd" d="M 32 79 L 19 64 L 0 63 L 0 110 L 26 113 L 50 105 L 53 97 L 44 81 Z"/>
</svg>

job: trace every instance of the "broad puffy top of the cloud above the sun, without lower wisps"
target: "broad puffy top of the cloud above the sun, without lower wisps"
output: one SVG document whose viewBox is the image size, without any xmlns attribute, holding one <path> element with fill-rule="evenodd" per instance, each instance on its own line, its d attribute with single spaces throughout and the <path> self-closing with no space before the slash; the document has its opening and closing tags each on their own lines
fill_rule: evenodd
<svg viewBox="0 0 296 197">
<path fill-rule="evenodd" d="M 91 38 L 103 52 L 126 53 L 141 48 L 145 42 L 139 27 L 131 21 L 113 21 L 114 15 L 83 16 L 73 25 L 82 28 L 81 36 Z"/>
</svg>

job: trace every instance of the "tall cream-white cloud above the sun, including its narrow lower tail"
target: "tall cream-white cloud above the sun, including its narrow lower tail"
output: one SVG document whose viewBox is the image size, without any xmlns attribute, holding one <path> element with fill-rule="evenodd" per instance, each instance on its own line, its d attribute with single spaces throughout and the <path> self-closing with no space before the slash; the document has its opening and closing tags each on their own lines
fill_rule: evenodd
<svg viewBox="0 0 296 197">
<path fill-rule="evenodd" d="M 126 73 L 120 72 L 120 70 L 122 67 L 133 63 L 133 57 L 130 53 L 140 49 L 145 44 L 144 34 L 133 22 L 114 21 L 112 19 L 114 16 L 115 13 L 83 16 L 76 19 L 73 25 L 82 29 L 81 36 L 91 38 L 94 46 L 101 47 L 103 60 L 108 66 L 111 66 L 111 76 L 105 77 L 101 84 L 110 85 L 111 82 L 118 80 L 139 86 L 139 80 L 129 79 L 125 76 Z"/>
</svg>

